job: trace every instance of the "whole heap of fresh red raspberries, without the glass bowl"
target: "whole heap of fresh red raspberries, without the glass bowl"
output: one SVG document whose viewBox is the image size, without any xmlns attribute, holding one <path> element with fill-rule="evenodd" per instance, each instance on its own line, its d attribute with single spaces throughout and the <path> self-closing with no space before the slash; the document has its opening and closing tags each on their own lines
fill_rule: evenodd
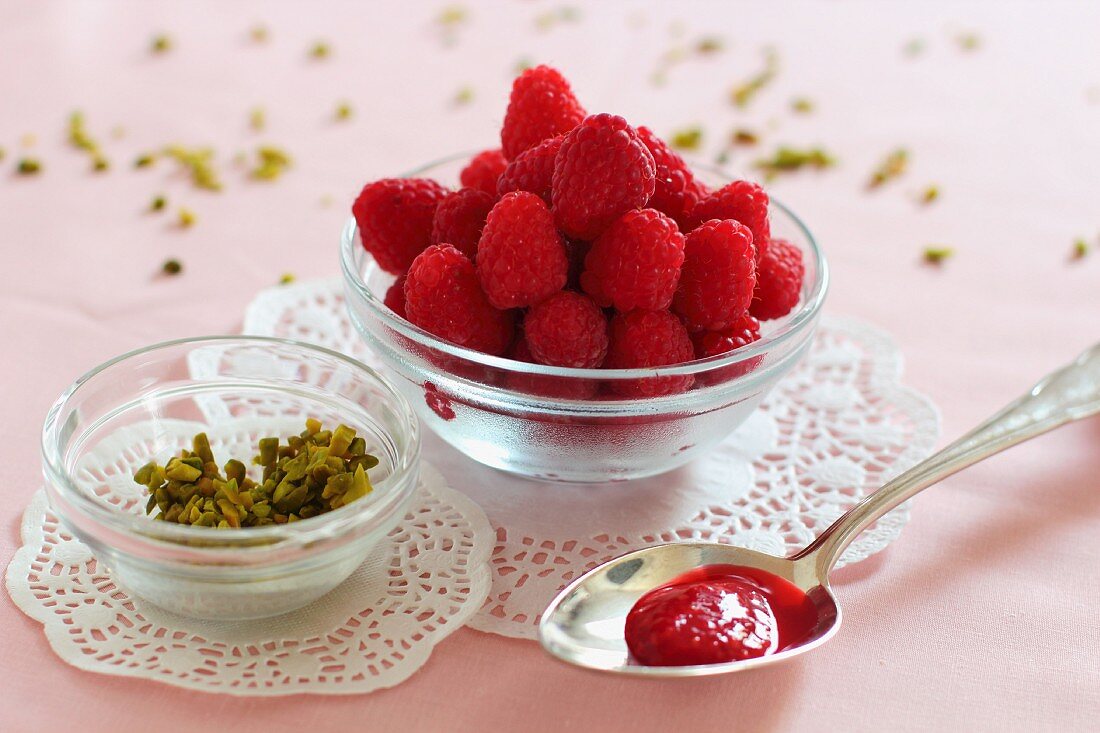
<svg viewBox="0 0 1100 733">
<path fill-rule="evenodd" d="M 771 238 L 759 185 L 708 189 L 649 129 L 587 114 L 549 66 L 516 78 L 501 149 L 460 177 L 453 192 L 376 180 L 352 206 L 363 247 L 397 276 L 386 305 L 452 343 L 553 366 L 664 366 L 750 343 L 760 319 L 799 302 L 802 253 Z M 526 380 L 510 386 L 600 389 Z M 693 378 L 608 384 L 649 397 Z"/>
</svg>

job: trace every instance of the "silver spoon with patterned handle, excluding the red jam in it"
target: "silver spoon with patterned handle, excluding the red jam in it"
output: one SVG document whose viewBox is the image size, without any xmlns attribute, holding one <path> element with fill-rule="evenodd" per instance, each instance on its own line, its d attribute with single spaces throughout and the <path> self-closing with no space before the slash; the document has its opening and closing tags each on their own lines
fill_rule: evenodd
<svg viewBox="0 0 1100 733">
<path fill-rule="evenodd" d="M 1056 427 L 1100 413 L 1100 343 L 1052 372 L 1004 409 L 851 507 L 805 549 L 789 558 L 716 543 L 672 543 L 627 553 L 593 568 L 562 590 L 539 622 L 551 655 L 588 669 L 646 677 L 723 675 L 790 659 L 821 646 L 840 627 L 828 573 L 840 554 L 876 519 L 956 471 Z M 717 665 L 646 667 L 624 639 L 626 615 L 646 592 L 694 568 L 760 568 L 801 588 L 817 609 L 817 625 L 801 644 L 768 656 Z"/>
</svg>

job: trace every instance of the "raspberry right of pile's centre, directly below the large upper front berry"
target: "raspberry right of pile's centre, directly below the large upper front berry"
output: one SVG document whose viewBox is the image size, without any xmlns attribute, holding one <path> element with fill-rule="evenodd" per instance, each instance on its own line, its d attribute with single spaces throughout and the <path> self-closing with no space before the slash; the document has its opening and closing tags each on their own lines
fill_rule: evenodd
<svg viewBox="0 0 1100 733">
<path fill-rule="evenodd" d="M 581 287 L 619 311 L 664 310 L 684 262 L 684 236 L 654 209 L 627 211 L 592 243 Z"/>
</svg>

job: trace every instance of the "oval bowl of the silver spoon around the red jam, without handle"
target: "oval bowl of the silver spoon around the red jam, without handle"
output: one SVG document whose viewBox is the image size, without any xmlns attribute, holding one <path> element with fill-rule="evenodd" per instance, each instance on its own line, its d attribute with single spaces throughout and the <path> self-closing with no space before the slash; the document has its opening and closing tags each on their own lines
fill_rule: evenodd
<svg viewBox="0 0 1100 733">
<path fill-rule="evenodd" d="M 817 609 L 817 624 L 796 646 L 722 665 L 647 667 L 631 661 L 624 635 L 626 615 L 647 592 L 684 572 L 712 565 L 760 568 L 791 581 Z M 640 677 L 703 677 L 777 664 L 824 644 L 840 627 L 840 606 L 806 559 L 765 555 L 716 543 L 671 543 L 627 553 L 568 586 L 542 614 L 539 638 L 562 661 Z"/>
</svg>

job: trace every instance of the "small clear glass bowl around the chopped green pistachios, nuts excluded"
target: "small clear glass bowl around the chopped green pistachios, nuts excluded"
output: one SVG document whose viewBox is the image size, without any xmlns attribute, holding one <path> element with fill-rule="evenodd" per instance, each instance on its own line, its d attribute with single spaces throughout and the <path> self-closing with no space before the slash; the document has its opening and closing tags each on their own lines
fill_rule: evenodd
<svg viewBox="0 0 1100 733">
<path fill-rule="evenodd" d="M 380 459 L 372 493 L 256 528 L 145 515 L 132 475 L 148 460 L 165 463 L 206 430 L 219 466 L 248 463 L 260 437 L 297 434 L 307 417 L 365 438 Z M 132 351 L 78 379 L 46 416 L 42 456 L 51 506 L 128 592 L 175 613 L 245 620 L 306 605 L 363 562 L 405 514 L 420 433 L 408 402 L 353 359 L 295 341 L 213 337 Z"/>
</svg>

